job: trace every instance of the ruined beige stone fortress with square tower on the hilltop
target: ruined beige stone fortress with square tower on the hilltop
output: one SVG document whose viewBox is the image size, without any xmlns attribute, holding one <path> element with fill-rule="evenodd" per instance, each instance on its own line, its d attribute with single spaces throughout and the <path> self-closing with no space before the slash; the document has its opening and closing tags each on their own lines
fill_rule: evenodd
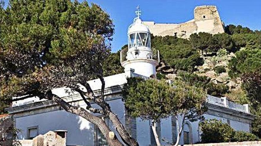
<svg viewBox="0 0 261 146">
<path fill-rule="evenodd" d="M 197 6 L 194 9 L 194 19 L 181 24 L 164 24 L 153 21 L 144 21 L 154 36 L 177 36 L 189 38 L 191 34 L 208 32 L 211 34 L 223 33 L 224 24 L 219 17 L 216 6 Z"/>
</svg>

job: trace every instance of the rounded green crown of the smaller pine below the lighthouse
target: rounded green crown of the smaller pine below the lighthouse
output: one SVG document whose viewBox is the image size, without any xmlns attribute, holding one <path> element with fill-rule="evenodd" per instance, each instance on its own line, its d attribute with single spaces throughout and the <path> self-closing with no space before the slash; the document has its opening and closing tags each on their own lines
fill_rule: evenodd
<svg viewBox="0 0 261 146">
<path fill-rule="evenodd" d="M 158 122 L 170 115 L 184 114 L 191 121 L 202 118 L 206 93 L 180 80 L 128 78 L 122 96 L 133 117 Z M 188 112 L 190 111 L 190 112 Z"/>
</svg>

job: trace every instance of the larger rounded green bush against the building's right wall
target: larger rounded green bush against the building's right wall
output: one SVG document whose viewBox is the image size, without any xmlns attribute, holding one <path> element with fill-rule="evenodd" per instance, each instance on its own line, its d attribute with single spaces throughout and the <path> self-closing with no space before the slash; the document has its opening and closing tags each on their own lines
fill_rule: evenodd
<svg viewBox="0 0 261 146">
<path fill-rule="evenodd" d="M 235 134 L 233 128 L 217 119 L 205 120 L 199 126 L 203 143 L 230 142 Z"/>
</svg>

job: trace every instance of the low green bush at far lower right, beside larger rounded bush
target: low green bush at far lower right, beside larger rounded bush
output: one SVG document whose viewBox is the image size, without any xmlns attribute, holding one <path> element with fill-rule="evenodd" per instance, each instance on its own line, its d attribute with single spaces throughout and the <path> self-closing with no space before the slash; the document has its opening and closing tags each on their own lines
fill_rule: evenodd
<svg viewBox="0 0 261 146">
<path fill-rule="evenodd" d="M 259 138 L 252 133 L 244 132 L 244 131 L 236 131 L 233 137 L 234 142 L 244 142 L 244 141 L 256 141 Z"/>
</svg>

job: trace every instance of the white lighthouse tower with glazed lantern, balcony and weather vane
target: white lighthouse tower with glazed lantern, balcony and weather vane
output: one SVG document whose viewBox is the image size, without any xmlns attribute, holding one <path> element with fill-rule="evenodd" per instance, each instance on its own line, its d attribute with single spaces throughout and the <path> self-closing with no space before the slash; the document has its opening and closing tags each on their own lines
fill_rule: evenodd
<svg viewBox="0 0 261 146">
<path fill-rule="evenodd" d="M 121 51 L 121 64 L 125 68 L 125 72 L 134 69 L 134 72 L 139 75 L 155 76 L 158 61 L 153 59 L 150 31 L 147 26 L 142 24 L 139 6 L 137 9 L 137 17 L 128 28 L 128 51 L 126 55 L 123 55 L 124 51 Z M 158 52 L 156 53 L 157 56 Z"/>
</svg>

